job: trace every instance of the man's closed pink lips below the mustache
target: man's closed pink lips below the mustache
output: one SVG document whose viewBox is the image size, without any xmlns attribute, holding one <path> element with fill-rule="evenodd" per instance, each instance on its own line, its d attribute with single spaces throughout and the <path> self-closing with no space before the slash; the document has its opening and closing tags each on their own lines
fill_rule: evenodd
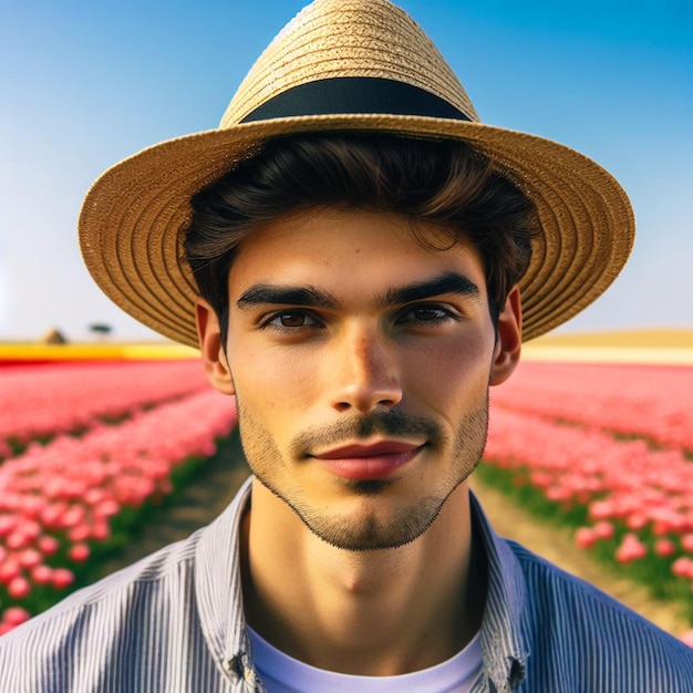
<svg viewBox="0 0 693 693">
<path fill-rule="evenodd" d="M 335 476 L 345 479 L 382 479 L 410 464 L 424 445 L 381 441 L 371 445 L 344 445 L 312 455 Z"/>
</svg>

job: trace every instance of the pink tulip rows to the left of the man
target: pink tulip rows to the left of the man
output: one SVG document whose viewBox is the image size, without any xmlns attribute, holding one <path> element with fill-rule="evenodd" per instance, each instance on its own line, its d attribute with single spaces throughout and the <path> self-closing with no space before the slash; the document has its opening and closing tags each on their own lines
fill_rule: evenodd
<svg viewBox="0 0 693 693">
<path fill-rule="evenodd" d="M 4 442 L 24 443 L 0 462 L 1 634 L 79 583 L 236 412 L 196 362 L 2 369 L 0 392 Z"/>
</svg>

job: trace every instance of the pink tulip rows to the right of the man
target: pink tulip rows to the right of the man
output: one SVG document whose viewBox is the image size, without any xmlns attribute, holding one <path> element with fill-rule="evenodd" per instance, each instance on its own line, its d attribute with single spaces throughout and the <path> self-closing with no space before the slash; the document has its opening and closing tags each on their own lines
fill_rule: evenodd
<svg viewBox="0 0 693 693">
<path fill-rule="evenodd" d="M 479 473 L 693 625 L 693 369 L 524 363 L 492 389 Z"/>
</svg>

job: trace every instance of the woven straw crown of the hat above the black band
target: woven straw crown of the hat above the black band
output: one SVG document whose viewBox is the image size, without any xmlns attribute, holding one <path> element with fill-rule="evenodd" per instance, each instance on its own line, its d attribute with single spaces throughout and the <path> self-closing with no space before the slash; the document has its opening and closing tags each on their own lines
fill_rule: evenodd
<svg viewBox="0 0 693 693">
<path fill-rule="evenodd" d="M 455 73 L 408 14 L 386 0 L 332 0 L 309 4 L 267 46 L 219 127 L 240 123 L 287 89 L 330 77 L 406 82 L 479 120 Z"/>
</svg>

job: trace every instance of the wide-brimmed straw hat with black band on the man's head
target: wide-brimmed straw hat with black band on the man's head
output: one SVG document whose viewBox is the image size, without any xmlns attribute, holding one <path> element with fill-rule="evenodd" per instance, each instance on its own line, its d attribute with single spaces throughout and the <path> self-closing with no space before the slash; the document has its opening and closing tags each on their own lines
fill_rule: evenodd
<svg viewBox="0 0 693 693">
<path fill-rule="evenodd" d="M 494 161 L 532 199 L 542 228 L 520 281 L 525 340 L 591 303 L 630 254 L 630 203 L 603 168 L 482 124 L 435 45 L 387 0 L 316 0 L 260 55 L 218 130 L 144 149 L 92 186 L 79 227 L 96 283 L 144 324 L 196 346 L 197 289 L 179 234 L 190 196 L 268 138 L 314 131 L 452 137 Z"/>
</svg>

